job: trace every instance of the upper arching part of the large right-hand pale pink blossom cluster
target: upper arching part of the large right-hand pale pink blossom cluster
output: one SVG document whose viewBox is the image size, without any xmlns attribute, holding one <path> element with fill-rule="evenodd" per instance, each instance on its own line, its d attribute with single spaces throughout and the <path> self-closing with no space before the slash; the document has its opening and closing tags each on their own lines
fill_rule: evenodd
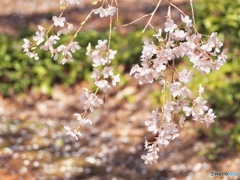
<svg viewBox="0 0 240 180">
<path fill-rule="evenodd" d="M 188 21 L 186 21 L 188 19 Z M 226 63 L 226 51 L 221 51 L 222 43 L 217 33 L 212 33 L 207 42 L 202 35 L 193 33 L 189 17 L 183 17 L 185 28 L 179 29 L 173 20 L 165 23 L 164 31 L 168 38 L 162 37 L 162 29 L 154 36 L 158 38 L 159 45 L 145 41 L 141 56 L 141 67 L 134 65 L 130 75 L 138 79 L 139 84 L 152 83 L 154 80 L 164 79 L 164 71 L 169 61 L 187 57 L 193 67 L 202 73 L 218 70 Z"/>
</svg>

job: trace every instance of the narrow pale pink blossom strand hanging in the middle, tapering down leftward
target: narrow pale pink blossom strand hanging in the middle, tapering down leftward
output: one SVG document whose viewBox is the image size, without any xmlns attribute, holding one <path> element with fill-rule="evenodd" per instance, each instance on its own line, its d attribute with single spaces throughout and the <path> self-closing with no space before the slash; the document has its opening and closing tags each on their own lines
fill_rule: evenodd
<svg viewBox="0 0 240 180">
<path fill-rule="evenodd" d="M 80 103 L 83 106 L 84 112 L 82 114 L 75 113 L 77 120 L 80 125 L 75 128 L 70 128 L 65 126 L 64 128 L 68 131 L 67 134 L 78 139 L 81 136 L 80 126 L 92 124 L 91 120 L 86 118 L 88 112 L 93 112 L 95 108 L 99 108 L 103 105 L 104 101 L 97 96 L 98 90 L 102 90 L 107 93 L 109 89 L 116 86 L 120 81 L 119 74 L 114 75 L 113 68 L 111 65 L 111 60 L 114 59 L 117 51 L 108 48 L 107 40 L 99 40 L 98 45 L 95 49 L 91 49 L 91 44 L 89 43 L 87 47 L 86 55 L 90 57 L 93 62 L 93 72 L 91 78 L 94 79 L 94 84 L 97 86 L 97 90 L 93 93 L 87 88 L 83 88 L 83 92 L 80 95 Z"/>
</svg>

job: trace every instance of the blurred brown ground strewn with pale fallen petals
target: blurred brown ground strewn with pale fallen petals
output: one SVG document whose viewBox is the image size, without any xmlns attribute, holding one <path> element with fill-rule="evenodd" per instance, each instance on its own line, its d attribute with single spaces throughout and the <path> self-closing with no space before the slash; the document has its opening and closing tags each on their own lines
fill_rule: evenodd
<svg viewBox="0 0 240 180">
<path fill-rule="evenodd" d="M 47 2 L 47 3 L 46 3 Z M 2 0 L 0 2 L 0 32 L 13 36 L 18 28 L 43 23 L 58 10 L 58 0 Z M 157 0 L 122 0 L 124 23 L 150 13 Z M 184 6 L 182 1 L 174 1 Z M 166 13 L 163 8 L 158 15 Z M 81 22 L 90 6 L 72 7 L 66 12 L 74 24 Z M 134 15 L 132 11 L 134 10 Z M 51 12 L 51 13 L 50 13 Z M 178 13 L 176 12 L 176 18 Z M 160 26 L 164 19 L 156 18 Z M 138 22 L 143 25 L 148 19 Z M 107 22 L 105 22 L 107 23 Z M 103 28 L 104 23 L 93 18 L 87 28 Z M 128 30 L 123 30 L 128 31 Z M 18 179 L 227 179 L 211 177 L 210 172 L 240 173 L 240 153 L 232 151 L 209 161 L 199 152 L 214 143 L 200 137 L 197 129 L 205 126 L 187 121 L 180 137 L 162 151 L 159 162 L 144 165 L 147 133 L 144 121 L 151 112 L 148 94 L 158 90 L 157 85 L 118 87 L 106 95 L 106 104 L 96 111 L 93 126 L 83 129 L 83 137 L 76 141 L 66 136 L 63 125 L 76 125 L 73 113 L 81 111 L 78 96 L 86 82 L 71 88 L 55 85 L 51 98 L 35 91 L 12 98 L 0 96 L 0 180 Z M 228 178 L 230 179 L 230 178 Z M 232 178 L 233 179 L 233 178 Z M 237 178 L 235 178 L 237 179 Z"/>
</svg>

